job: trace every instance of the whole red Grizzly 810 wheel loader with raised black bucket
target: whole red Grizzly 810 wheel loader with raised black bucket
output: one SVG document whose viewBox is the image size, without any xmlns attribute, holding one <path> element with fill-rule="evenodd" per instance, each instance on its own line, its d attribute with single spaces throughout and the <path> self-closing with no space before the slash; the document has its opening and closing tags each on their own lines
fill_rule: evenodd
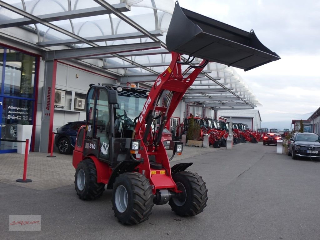
<svg viewBox="0 0 320 240">
<path fill-rule="evenodd" d="M 76 194 L 82 200 L 112 189 L 112 208 L 123 224 L 148 219 L 154 204 L 169 203 L 180 216 L 203 212 L 208 193 L 192 163 L 170 166 L 183 144 L 171 141 L 169 159 L 161 133 L 195 78 L 209 61 L 249 70 L 279 56 L 260 43 L 254 32 L 180 8 L 176 2 L 166 36 L 170 66 L 150 90 L 108 84 L 91 85 L 86 96 L 86 125 L 79 129 L 73 166 Z M 190 64 L 180 54 L 204 59 Z M 186 76 L 181 65 L 190 64 Z M 159 104 L 167 95 L 164 106 Z M 159 113 L 156 115 L 156 113 Z M 155 127 L 156 119 L 160 125 Z"/>
</svg>

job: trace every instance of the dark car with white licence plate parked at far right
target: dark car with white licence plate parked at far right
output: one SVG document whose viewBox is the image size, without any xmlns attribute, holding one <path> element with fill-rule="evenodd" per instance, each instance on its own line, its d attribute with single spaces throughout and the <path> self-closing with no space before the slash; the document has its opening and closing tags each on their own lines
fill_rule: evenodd
<svg viewBox="0 0 320 240">
<path fill-rule="evenodd" d="M 316 133 L 296 132 L 288 141 L 288 156 L 320 157 L 320 137 Z"/>
</svg>

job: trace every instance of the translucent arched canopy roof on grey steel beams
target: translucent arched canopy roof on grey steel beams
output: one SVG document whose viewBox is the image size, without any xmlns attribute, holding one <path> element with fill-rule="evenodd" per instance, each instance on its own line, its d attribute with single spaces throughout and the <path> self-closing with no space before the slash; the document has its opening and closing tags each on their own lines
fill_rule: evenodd
<svg viewBox="0 0 320 240">
<path fill-rule="evenodd" d="M 0 1 L 0 27 L 30 31 L 36 37 L 24 40 L 44 51 L 116 46 L 116 53 L 76 59 L 117 76 L 118 83 L 150 87 L 171 61 L 165 36 L 174 5 L 174 0 L 6 0 Z M 200 62 L 195 58 L 192 64 Z M 184 97 L 216 110 L 261 105 L 235 68 L 215 62 Z"/>
</svg>

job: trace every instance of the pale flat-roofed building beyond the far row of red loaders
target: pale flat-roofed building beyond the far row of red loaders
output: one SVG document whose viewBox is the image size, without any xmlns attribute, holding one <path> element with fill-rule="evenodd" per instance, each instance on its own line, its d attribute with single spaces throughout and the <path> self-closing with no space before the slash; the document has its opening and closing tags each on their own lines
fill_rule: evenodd
<svg viewBox="0 0 320 240">
<path fill-rule="evenodd" d="M 220 116 L 227 118 L 227 121 L 230 121 L 231 117 L 233 123 L 247 124 L 253 131 L 257 131 L 261 126 L 261 116 L 257 109 L 224 110 L 220 111 Z"/>
</svg>

